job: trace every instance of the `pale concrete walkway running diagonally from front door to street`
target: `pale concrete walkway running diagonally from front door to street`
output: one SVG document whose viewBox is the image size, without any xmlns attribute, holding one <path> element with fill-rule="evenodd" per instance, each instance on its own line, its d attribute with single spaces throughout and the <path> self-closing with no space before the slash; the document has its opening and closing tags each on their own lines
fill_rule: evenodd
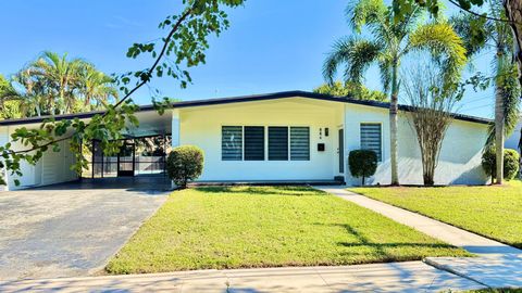
<svg viewBox="0 0 522 293">
<path fill-rule="evenodd" d="M 350 192 L 346 187 L 315 187 L 372 209 L 478 257 L 427 257 L 426 264 L 490 288 L 522 288 L 522 251 L 455 226 Z"/>
</svg>

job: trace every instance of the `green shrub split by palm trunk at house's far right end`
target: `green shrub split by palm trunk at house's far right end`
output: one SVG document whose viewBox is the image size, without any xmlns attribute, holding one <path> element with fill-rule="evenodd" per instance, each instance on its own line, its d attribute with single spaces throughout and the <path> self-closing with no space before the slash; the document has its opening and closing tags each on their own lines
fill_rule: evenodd
<svg viewBox="0 0 522 293">
<path fill-rule="evenodd" d="M 506 180 L 513 179 L 519 173 L 519 160 L 520 155 L 515 150 L 504 150 L 504 178 Z M 496 164 L 495 146 L 487 148 L 482 154 L 482 167 L 492 177 L 492 181 L 497 178 Z"/>
</svg>

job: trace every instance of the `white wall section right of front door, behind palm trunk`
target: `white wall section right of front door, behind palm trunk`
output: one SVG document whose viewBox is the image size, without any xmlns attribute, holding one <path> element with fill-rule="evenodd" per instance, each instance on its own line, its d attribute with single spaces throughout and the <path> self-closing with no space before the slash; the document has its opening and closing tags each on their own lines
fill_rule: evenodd
<svg viewBox="0 0 522 293">
<path fill-rule="evenodd" d="M 401 184 L 422 184 L 422 163 L 419 143 L 411 128 L 407 114 L 399 114 L 399 181 Z M 381 123 L 383 125 L 383 162 L 369 184 L 389 184 L 391 170 L 389 153 L 389 116 L 388 110 L 362 105 L 346 105 L 346 129 L 349 145 L 347 153 L 360 148 L 360 124 Z M 436 184 L 483 184 L 487 177 L 481 167 L 482 149 L 487 138 L 484 124 L 453 119 L 448 128 L 437 169 Z M 349 173 L 347 182 L 360 184 L 360 178 L 352 178 Z"/>
</svg>

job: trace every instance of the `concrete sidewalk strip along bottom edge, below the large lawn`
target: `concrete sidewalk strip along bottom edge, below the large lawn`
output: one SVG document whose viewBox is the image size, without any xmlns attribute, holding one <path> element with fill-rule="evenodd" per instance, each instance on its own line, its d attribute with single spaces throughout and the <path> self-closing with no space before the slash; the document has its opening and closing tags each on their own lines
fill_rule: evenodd
<svg viewBox="0 0 522 293">
<path fill-rule="evenodd" d="M 0 282 L 0 292 L 440 292 L 481 288 L 422 262 Z"/>
</svg>

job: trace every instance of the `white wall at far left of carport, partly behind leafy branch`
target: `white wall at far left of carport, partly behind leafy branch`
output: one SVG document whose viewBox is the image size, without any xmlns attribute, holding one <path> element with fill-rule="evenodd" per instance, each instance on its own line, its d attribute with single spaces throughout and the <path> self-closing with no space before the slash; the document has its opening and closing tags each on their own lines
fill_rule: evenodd
<svg viewBox="0 0 522 293">
<path fill-rule="evenodd" d="M 14 132 L 16 126 L 1 127 L 0 133 Z M 0 136 L 1 137 L 1 136 Z M 4 139 L 5 140 L 5 139 Z M 0 141 L 4 144 L 5 141 Z M 77 179 L 76 174 L 71 170 L 71 165 L 74 164 L 74 155 L 69 150 L 69 141 L 62 141 L 60 144 L 60 152 L 53 152 L 48 150 L 42 158 L 35 165 L 30 165 L 25 161 L 21 162 L 21 171 L 23 176 L 9 175 L 8 174 L 8 189 L 17 190 L 30 187 L 48 186 L 53 183 L 66 182 Z M 21 143 L 13 143 L 13 150 L 25 150 L 28 146 L 24 146 Z M 20 186 L 15 184 L 14 180 L 20 181 Z"/>
</svg>

